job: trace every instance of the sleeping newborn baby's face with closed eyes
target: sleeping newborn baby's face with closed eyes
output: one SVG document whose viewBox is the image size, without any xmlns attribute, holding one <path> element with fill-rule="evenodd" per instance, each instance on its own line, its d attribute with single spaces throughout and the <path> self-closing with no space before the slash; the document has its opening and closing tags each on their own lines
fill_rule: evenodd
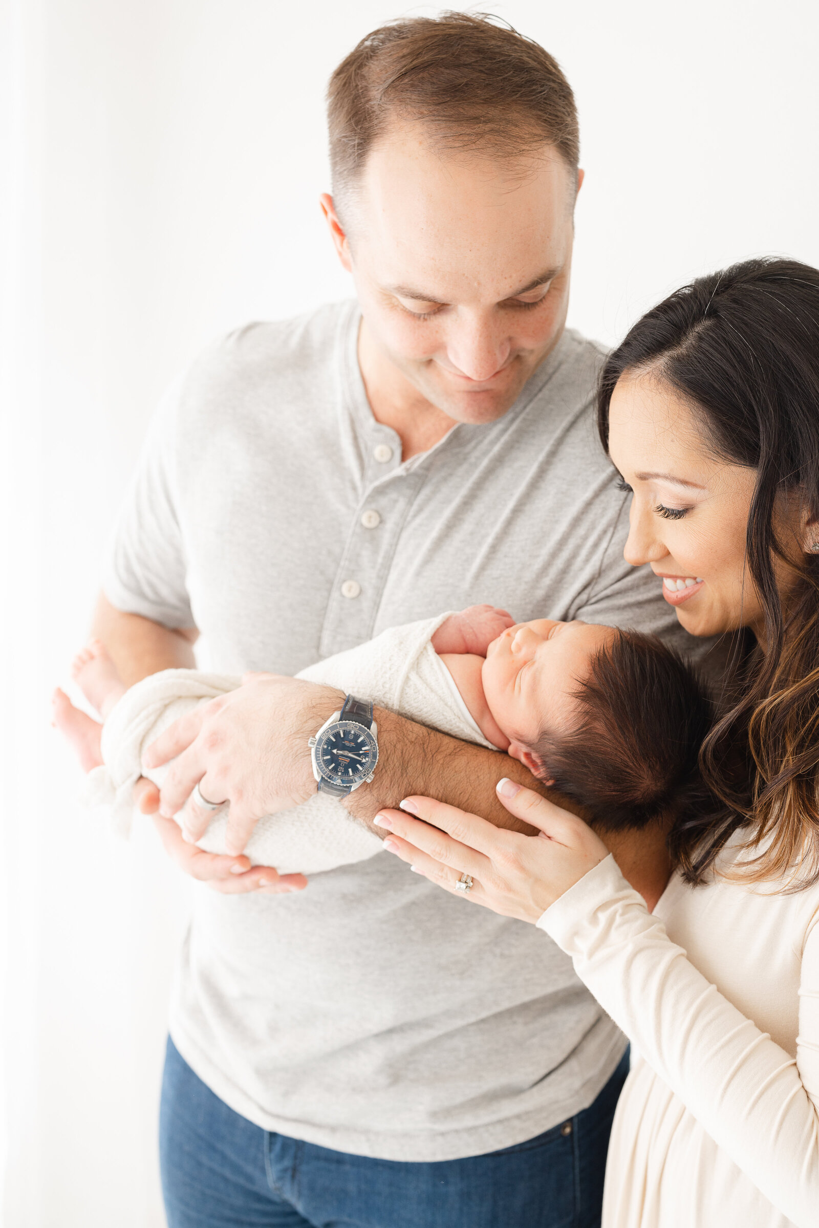
<svg viewBox="0 0 819 1228">
<path fill-rule="evenodd" d="M 516 747 L 533 747 L 544 726 L 555 733 L 571 728 L 577 684 L 614 634 L 610 626 L 544 618 L 518 623 L 492 640 L 481 670 L 484 694 L 512 754 Z"/>
</svg>

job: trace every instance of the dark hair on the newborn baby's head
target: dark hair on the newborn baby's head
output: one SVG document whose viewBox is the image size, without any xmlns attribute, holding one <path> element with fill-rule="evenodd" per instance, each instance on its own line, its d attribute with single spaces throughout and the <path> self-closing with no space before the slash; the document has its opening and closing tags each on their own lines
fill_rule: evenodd
<svg viewBox="0 0 819 1228">
<path fill-rule="evenodd" d="M 544 731 L 538 776 L 604 831 L 643 828 L 707 804 L 699 770 L 711 701 L 697 674 L 653 635 L 618 631 L 592 659 L 569 733 Z"/>
</svg>

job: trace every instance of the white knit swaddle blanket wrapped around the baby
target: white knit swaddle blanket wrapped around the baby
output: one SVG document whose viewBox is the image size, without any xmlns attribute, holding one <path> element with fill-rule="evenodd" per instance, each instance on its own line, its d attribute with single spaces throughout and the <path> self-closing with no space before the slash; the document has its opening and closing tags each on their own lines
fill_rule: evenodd
<svg viewBox="0 0 819 1228">
<path fill-rule="evenodd" d="M 490 747 L 458 693 L 431 637 L 447 618 L 390 628 L 375 640 L 302 669 L 297 678 L 371 699 L 413 721 L 452 737 Z M 111 808 L 118 831 L 128 835 L 134 785 L 140 776 L 161 785 L 167 766 L 144 771 L 142 752 L 173 721 L 198 704 L 235 690 L 239 679 L 195 669 L 166 669 L 131 686 L 109 713 L 102 731 L 103 768 L 88 776 L 85 799 Z M 376 769 L 377 771 L 378 769 Z M 220 812 L 198 841 L 206 852 L 225 852 L 227 813 Z M 281 874 L 318 874 L 365 861 L 381 851 L 381 839 L 351 818 L 338 798 L 316 793 L 290 810 L 257 823 L 244 852 L 254 866 L 275 866 Z"/>
</svg>

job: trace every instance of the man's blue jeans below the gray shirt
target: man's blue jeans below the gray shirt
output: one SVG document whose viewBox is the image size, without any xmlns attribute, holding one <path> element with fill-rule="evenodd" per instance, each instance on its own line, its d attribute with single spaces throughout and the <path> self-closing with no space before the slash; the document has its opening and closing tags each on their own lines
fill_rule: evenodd
<svg viewBox="0 0 819 1228">
<path fill-rule="evenodd" d="M 168 1228 L 597 1228 L 629 1055 L 597 1100 L 537 1138 L 430 1164 L 270 1133 L 214 1095 L 168 1040 L 160 1113 Z"/>
</svg>

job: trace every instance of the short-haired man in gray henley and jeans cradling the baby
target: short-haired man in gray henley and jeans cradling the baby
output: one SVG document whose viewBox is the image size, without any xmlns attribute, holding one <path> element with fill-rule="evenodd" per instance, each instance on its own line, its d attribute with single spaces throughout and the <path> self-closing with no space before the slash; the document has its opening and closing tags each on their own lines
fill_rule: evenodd
<svg viewBox="0 0 819 1228">
<path fill-rule="evenodd" d="M 398 22 L 333 75 L 329 126 L 357 303 L 243 329 L 171 391 L 101 599 L 120 670 L 193 664 L 201 631 L 216 668 L 290 675 L 478 602 L 675 637 L 623 560 L 598 350 L 564 332 L 582 173 L 555 61 L 484 18 Z M 163 738 L 166 847 L 217 888 L 174 995 L 168 1223 L 594 1224 L 625 1043 L 556 947 L 387 855 L 303 890 L 239 856 L 316 787 L 307 739 L 340 702 L 260 678 Z M 354 814 L 415 792 L 508 820 L 494 786 L 521 765 L 377 715 Z M 206 822 L 194 783 L 230 801 L 235 856 L 167 817 Z M 662 884 L 661 833 L 618 856 Z"/>
</svg>

